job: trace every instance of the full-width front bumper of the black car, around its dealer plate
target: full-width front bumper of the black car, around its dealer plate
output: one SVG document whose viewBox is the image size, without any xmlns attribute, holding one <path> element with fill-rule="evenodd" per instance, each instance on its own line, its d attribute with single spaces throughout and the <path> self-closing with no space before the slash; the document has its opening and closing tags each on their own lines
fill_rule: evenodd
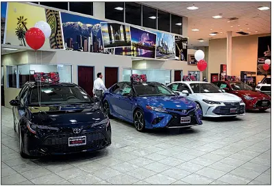
<svg viewBox="0 0 274 186">
<path fill-rule="evenodd" d="M 69 146 L 69 137 L 86 136 L 86 145 Z M 97 151 L 111 144 L 111 127 L 96 127 L 81 133 L 27 134 L 24 151 L 30 156 L 68 155 L 77 152 Z"/>
</svg>

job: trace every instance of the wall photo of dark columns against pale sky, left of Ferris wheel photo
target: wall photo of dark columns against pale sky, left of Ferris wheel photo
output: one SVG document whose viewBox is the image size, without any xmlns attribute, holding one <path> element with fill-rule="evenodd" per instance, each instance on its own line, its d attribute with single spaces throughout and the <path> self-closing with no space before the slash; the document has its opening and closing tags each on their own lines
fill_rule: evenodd
<svg viewBox="0 0 274 186">
<path fill-rule="evenodd" d="M 101 31 L 104 49 L 130 47 L 132 45 L 129 25 L 121 25 L 119 23 L 101 23 Z"/>
</svg>

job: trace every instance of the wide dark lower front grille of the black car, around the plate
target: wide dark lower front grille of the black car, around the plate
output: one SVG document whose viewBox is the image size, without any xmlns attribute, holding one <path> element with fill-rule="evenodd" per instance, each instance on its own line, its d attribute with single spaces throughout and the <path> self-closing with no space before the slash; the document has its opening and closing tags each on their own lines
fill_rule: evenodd
<svg viewBox="0 0 274 186">
<path fill-rule="evenodd" d="M 69 146 L 69 137 L 77 137 L 86 135 L 86 145 L 84 146 Z M 79 152 L 91 148 L 99 148 L 105 142 L 105 136 L 101 132 L 89 133 L 67 133 L 60 135 L 49 135 L 41 148 L 47 148 L 49 152 Z"/>
</svg>

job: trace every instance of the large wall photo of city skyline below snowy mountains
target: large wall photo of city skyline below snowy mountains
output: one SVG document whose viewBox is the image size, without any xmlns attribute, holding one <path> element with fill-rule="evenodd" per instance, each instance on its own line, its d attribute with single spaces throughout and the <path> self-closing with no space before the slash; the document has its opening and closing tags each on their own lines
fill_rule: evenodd
<svg viewBox="0 0 274 186">
<path fill-rule="evenodd" d="M 100 20 L 61 12 L 65 49 L 103 52 Z"/>
</svg>

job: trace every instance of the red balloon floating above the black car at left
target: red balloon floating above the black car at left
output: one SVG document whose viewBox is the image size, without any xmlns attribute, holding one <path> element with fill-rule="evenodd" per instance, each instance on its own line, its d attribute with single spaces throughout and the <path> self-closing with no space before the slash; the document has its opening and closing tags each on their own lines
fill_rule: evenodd
<svg viewBox="0 0 274 186">
<path fill-rule="evenodd" d="M 29 47 L 34 50 L 40 49 L 45 43 L 45 35 L 38 28 L 30 28 L 25 34 L 25 38 Z"/>
</svg>

